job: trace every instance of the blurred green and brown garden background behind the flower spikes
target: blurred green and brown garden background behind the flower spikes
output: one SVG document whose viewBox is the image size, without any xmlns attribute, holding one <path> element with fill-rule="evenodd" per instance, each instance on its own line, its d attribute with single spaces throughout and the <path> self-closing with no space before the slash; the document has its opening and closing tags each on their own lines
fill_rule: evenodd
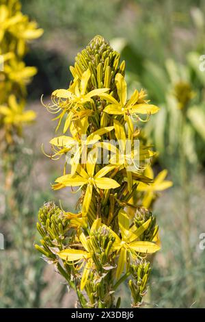
<svg viewBox="0 0 205 322">
<path fill-rule="evenodd" d="M 23 212 L 12 225 L 5 211 L 0 187 L 1 232 L 6 236 L 1 251 L 0 307 L 72 307 L 74 297 L 33 249 L 35 222 L 44 201 L 55 199 L 69 210 L 74 196 L 53 193 L 49 182 L 59 175 L 60 162 L 43 156 L 55 132 L 51 115 L 41 106 L 56 88 L 66 88 L 68 67 L 74 56 L 100 34 L 126 60 L 130 88 L 146 88 L 160 106 L 144 132 L 159 151 L 156 172 L 167 169 L 173 188 L 161 193 L 154 205 L 160 226 L 162 249 L 154 258 L 148 307 L 203 308 L 205 306 L 205 252 L 200 234 L 205 232 L 205 3 L 200 0 L 22 0 L 23 13 L 35 19 L 44 35 L 31 45 L 26 62 L 38 67 L 28 88 L 28 108 L 38 114 L 26 129 L 24 149 L 17 158 L 16 187 Z M 27 164 L 23 179 L 18 169 Z M 23 182 L 23 183 L 22 183 Z M 19 184 L 19 186 L 18 186 Z M 20 191 L 20 193 L 19 193 Z M 10 221 L 8 221 L 10 219 Z M 23 263 L 14 252 L 13 236 L 22 240 Z M 25 254 L 24 254 L 25 251 Z M 18 265 L 21 261 L 20 266 Z M 30 262 L 30 268 L 27 265 Z M 35 269 L 32 267 L 35 266 Z M 23 269 L 22 269 L 23 267 Z M 10 273 L 8 274 L 8 270 Z M 123 291 L 123 288 L 122 288 Z M 124 306 L 128 305 L 124 302 Z"/>
</svg>

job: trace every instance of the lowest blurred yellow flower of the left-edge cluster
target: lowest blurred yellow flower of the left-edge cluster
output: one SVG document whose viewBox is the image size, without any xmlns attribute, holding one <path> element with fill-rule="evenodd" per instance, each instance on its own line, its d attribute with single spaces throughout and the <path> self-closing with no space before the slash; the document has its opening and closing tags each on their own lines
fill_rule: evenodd
<svg viewBox="0 0 205 322">
<path fill-rule="evenodd" d="M 18 103 L 14 95 L 10 95 L 8 106 L 0 106 L 0 115 L 3 116 L 5 124 L 22 125 L 29 123 L 36 118 L 36 113 L 32 110 L 24 110 L 24 103 Z"/>
</svg>

